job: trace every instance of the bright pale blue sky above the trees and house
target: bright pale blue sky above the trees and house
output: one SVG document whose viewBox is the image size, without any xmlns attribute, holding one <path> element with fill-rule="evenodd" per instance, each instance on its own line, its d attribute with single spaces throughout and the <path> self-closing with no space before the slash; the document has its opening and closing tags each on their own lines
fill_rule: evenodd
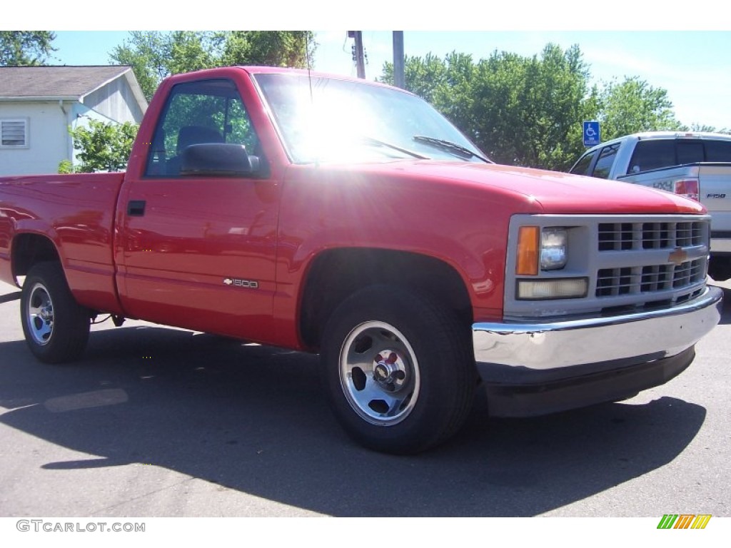
<svg viewBox="0 0 731 548">
<path fill-rule="evenodd" d="M 129 35 L 126 31 L 58 31 L 54 59 L 58 64 L 107 64 L 109 52 Z M 346 31 L 317 31 L 315 68 L 355 76 L 352 39 Z M 668 91 L 683 123 L 731 129 L 731 31 L 405 31 L 407 56 L 451 51 L 475 60 L 493 50 L 524 56 L 540 53 L 554 42 L 578 44 L 597 83 L 638 76 Z M 392 59 L 390 31 L 363 31 L 368 56 L 366 77 L 381 75 Z"/>
</svg>

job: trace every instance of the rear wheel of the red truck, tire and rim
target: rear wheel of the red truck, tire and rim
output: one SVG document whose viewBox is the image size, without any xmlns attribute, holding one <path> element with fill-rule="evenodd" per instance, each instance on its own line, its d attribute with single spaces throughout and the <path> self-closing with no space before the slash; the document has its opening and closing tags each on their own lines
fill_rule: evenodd
<svg viewBox="0 0 731 548">
<path fill-rule="evenodd" d="M 31 267 L 20 296 L 20 321 L 29 349 L 45 363 L 69 362 L 86 348 L 91 315 L 80 306 L 57 262 Z"/>
</svg>

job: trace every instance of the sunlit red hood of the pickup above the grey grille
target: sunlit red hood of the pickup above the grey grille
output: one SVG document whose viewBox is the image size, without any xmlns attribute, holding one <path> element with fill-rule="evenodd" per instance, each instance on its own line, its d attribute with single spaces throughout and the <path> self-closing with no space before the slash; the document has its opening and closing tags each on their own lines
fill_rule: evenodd
<svg viewBox="0 0 731 548">
<path fill-rule="evenodd" d="M 489 190 L 507 199 L 523 201 L 526 213 L 705 213 L 699 202 L 656 189 L 501 164 L 417 160 L 339 168 L 358 170 L 363 175 L 370 173 L 377 178 L 406 178 L 442 186 L 447 183 L 455 186 L 455 191 L 471 189 L 484 194 Z"/>
</svg>

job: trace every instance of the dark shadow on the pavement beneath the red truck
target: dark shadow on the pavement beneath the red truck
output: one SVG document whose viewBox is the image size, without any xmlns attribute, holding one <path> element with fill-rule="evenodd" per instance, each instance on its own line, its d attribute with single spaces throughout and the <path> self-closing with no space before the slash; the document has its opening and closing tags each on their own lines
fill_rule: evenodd
<svg viewBox="0 0 731 548">
<path fill-rule="evenodd" d="M 672 397 L 490 420 L 478 400 L 450 442 L 393 457 L 346 438 L 318 366 L 160 327 L 93 332 L 73 365 L 42 365 L 23 341 L 0 343 L 0 422 L 91 455 L 42 465 L 52 473 L 151 464 L 333 516 L 525 517 L 670 463 L 705 419 L 705 408 Z"/>
</svg>

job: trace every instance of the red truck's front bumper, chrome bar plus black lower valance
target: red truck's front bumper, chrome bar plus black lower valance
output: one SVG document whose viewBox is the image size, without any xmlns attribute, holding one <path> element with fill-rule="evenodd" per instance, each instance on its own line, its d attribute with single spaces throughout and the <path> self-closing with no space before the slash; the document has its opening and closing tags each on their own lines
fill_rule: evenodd
<svg viewBox="0 0 731 548">
<path fill-rule="evenodd" d="M 473 325 L 488 412 L 534 416 L 632 397 L 683 372 L 721 319 L 717 287 L 670 310 Z"/>
</svg>

